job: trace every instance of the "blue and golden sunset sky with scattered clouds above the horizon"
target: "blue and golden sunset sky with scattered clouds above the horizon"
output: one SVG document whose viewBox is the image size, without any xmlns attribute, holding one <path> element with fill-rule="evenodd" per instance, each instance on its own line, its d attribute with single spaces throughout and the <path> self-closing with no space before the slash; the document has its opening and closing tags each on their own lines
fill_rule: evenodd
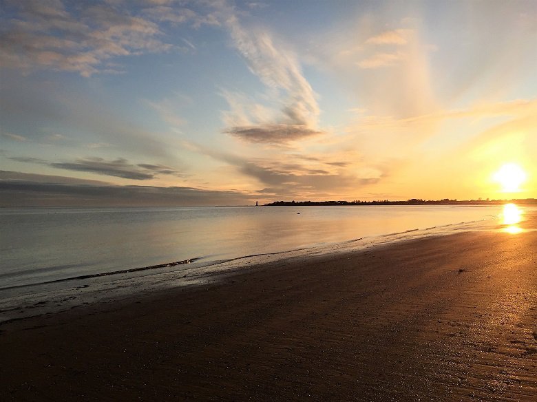
<svg viewBox="0 0 537 402">
<path fill-rule="evenodd" d="M 536 1 L 0 3 L 0 206 L 537 198 Z"/>
</svg>

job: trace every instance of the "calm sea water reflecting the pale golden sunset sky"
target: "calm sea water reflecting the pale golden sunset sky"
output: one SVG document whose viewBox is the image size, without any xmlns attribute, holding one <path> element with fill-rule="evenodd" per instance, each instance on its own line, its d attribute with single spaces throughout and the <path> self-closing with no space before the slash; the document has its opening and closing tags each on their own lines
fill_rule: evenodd
<svg viewBox="0 0 537 402">
<path fill-rule="evenodd" d="M 290 251 L 497 215 L 501 207 L 0 209 L 0 289 Z"/>
</svg>

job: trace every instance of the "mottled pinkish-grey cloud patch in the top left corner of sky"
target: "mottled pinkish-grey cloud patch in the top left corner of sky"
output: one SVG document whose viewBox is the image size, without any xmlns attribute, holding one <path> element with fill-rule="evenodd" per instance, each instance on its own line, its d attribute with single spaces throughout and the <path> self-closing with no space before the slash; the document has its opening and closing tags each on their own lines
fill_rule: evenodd
<svg viewBox="0 0 537 402">
<path fill-rule="evenodd" d="M 92 76 L 117 71 L 109 59 L 143 52 L 166 52 L 158 25 L 103 3 L 67 11 L 59 0 L 14 3 L 16 17 L 3 21 L 2 67 L 78 72 Z"/>
</svg>

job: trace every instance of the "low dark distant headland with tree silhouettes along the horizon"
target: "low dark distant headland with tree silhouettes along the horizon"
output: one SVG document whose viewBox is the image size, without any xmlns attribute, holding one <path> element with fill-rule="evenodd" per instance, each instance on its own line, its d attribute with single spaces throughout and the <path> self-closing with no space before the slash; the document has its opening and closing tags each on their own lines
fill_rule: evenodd
<svg viewBox="0 0 537 402">
<path fill-rule="evenodd" d="M 444 198 L 443 200 L 421 200 L 420 198 L 412 198 L 405 201 L 390 201 L 390 200 L 375 200 L 375 201 L 275 201 L 266 206 L 284 206 L 284 207 L 305 207 L 310 205 L 497 205 L 505 204 L 505 202 L 514 202 L 516 204 L 535 204 L 537 205 L 536 198 L 514 199 L 514 200 L 450 200 Z"/>
</svg>

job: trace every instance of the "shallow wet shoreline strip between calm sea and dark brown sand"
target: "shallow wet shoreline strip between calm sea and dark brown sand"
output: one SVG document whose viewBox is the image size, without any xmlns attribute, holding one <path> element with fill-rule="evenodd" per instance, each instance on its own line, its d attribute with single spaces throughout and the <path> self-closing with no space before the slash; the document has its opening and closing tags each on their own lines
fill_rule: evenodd
<svg viewBox="0 0 537 402">
<path fill-rule="evenodd" d="M 181 262 L 164 263 L 143 268 L 130 268 L 111 273 L 67 277 L 48 282 L 0 288 L 0 325 L 3 322 L 61 313 L 89 304 L 129 299 L 177 287 L 200 286 L 218 282 L 235 271 L 254 266 L 295 260 L 307 264 L 312 257 L 353 253 L 373 248 L 389 247 L 399 242 L 408 242 L 425 237 L 452 235 L 466 231 L 496 230 L 495 218 L 471 222 L 451 223 L 425 229 L 408 229 L 359 237 L 328 244 L 317 244 L 287 251 L 244 255 L 204 262 L 192 258 Z M 193 262 L 193 263 L 191 263 Z M 169 266 L 172 270 L 160 269 Z"/>
</svg>

